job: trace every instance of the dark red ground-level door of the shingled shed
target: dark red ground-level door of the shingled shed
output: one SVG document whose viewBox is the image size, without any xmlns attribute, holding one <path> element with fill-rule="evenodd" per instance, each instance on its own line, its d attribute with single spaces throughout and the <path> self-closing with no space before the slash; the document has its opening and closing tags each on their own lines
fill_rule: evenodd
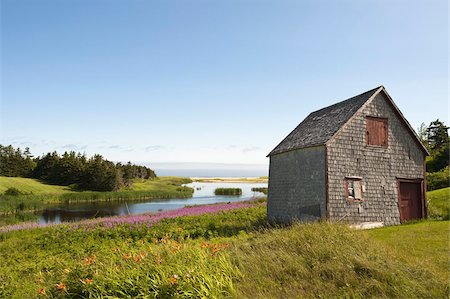
<svg viewBox="0 0 450 299">
<path fill-rule="evenodd" d="M 407 221 L 422 218 L 421 183 L 399 182 L 400 184 L 400 220 Z"/>
</svg>

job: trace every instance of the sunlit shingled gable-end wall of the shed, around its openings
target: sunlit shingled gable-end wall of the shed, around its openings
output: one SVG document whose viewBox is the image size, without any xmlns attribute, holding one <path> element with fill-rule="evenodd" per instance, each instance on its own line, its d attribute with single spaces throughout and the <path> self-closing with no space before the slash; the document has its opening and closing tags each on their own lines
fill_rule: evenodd
<svg viewBox="0 0 450 299">
<path fill-rule="evenodd" d="M 424 153 L 380 92 L 327 144 L 329 216 L 347 222 L 398 224 L 397 180 L 423 178 Z M 388 118 L 388 147 L 366 146 L 366 116 Z M 347 203 L 345 177 L 359 176 L 364 202 Z"/>
</svg>

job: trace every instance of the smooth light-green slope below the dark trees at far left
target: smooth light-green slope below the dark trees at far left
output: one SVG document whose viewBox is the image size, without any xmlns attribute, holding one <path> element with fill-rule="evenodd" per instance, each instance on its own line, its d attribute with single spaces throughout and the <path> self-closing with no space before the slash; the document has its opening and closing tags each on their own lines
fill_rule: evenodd
<svg viewBox="0 0 450 299">
<path fill-rule="evenodd" d="M 35 179 L 0 176 L 0 194 L 8 188 L 17 188 L 24 193 L 62 194 L 72 192 L 69 187 L 48 185 Z"/>
</svg>

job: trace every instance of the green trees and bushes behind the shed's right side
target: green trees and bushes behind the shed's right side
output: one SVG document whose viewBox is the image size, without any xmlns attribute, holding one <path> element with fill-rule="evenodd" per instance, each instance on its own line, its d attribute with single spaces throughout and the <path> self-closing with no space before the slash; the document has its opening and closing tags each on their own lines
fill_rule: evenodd
<svg viewBox="0 0 450 299">
<path fill-rule="evenodd" d="M 430 152 L 427 157 L 427 189 L 434 190 L 450 185 L 449 157 L 450 139 L 448 129 L 439 119 L 429 126 L 424 123 L 419 127 L 418 135 Z"/>
</svg>

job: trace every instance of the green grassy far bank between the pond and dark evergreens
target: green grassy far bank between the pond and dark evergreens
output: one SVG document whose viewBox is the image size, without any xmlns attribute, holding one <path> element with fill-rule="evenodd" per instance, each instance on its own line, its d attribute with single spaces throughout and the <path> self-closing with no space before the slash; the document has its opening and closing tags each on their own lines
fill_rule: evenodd
<svg viewBox="0 0 450 299">
<path fill-rule="evenodd" d="M 130 188 L 120 191 L 75 192 L 65 186 L 48 185 L 34 179 L 0 177 L 0 190 L 14 187 L 27 194 L 10 196 L 0 193 L 0 214 L 37 211 L 48 204 L 55 203 L 188 198 L 192 196 L 193 189 L 181 185 L 189 182 L 191 180 L 187 178 L 161 177 L 152 180 L 136 180 Z"/>
</svg>

